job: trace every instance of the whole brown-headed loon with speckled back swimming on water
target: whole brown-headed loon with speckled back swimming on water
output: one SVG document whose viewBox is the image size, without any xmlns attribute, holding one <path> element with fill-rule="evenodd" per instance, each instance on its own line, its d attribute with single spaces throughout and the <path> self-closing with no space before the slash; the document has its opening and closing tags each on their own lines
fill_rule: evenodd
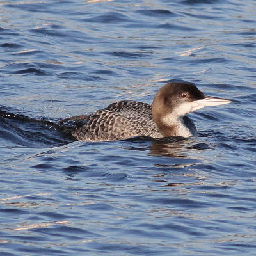
<svg viewBox="0 0 256 256">
<path fill-rule="evenodd" d="M 194 83 L 171 82 L 159 89 L 152 104 L 118 101 L 90 115 L 59 122 L 75 120 L 71 134 L 81 141 L 117 141 L 136 136 L 187 138 L 197 135 L 195 124 L 186 116 L 188 113 L 230 102 L 204 95 Z"/>
</svg>

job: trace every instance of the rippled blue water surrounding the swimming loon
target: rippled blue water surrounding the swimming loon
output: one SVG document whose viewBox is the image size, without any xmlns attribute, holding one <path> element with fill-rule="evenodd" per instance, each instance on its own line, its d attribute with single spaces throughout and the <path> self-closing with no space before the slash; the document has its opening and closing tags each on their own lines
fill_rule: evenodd
<svg viewBox="0 0 256 256">
<path fill-rule="evenodd" d="M 255 255 L 255 1 L 0 12 L 1 256 Z M 183 141 L 72 141 L 44 121 L 151 102 L 170 79 L 234 103 L 191 114 Z"/>
</svg>

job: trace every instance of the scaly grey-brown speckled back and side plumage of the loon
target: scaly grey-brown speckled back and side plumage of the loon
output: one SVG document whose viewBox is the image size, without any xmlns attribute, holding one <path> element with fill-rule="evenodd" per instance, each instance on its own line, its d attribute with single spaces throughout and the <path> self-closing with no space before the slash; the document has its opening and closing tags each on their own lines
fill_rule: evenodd
<svg viewBox="0 0 256 256">
<path fill-rule="evenodd" d="M 151 104 L 120 101 L 88 115 L 72 131 L 77 140 L 115 141 L 135 136 L 163 137 L 152 118 Z"/>
</svg>

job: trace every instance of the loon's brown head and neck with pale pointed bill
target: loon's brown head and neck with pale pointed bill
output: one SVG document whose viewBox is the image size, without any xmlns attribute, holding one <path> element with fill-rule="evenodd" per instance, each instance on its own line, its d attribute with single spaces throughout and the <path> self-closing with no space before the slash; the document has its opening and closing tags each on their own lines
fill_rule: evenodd
<svg viewBox="0 0 256 256">
<path fill-rule="evenodd" d="M 205 96 L 193 83 L 167 83 L 156 93 L 152 115 L 163 136 L 174 136 L 182 116 L 204 108 L 230 103 L 230 100 Z"/>
</svg>

